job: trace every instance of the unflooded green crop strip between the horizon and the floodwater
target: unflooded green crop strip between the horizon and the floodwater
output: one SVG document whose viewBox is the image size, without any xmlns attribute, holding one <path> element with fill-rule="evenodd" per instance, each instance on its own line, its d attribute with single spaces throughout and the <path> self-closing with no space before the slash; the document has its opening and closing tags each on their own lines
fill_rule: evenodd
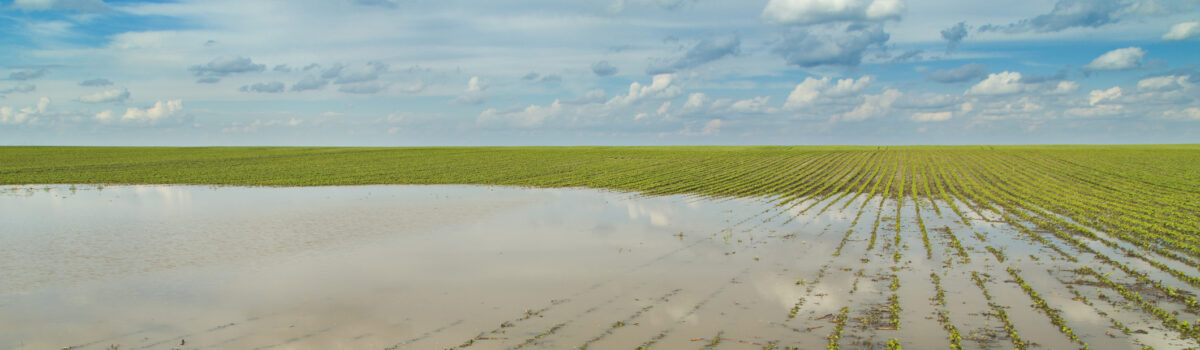
<svg viewBox="0 0 1200 350">
<path fill-rule="evenodd" d="M 1012 209 L 1072 234 L 1086 235 L 1091 230 L 1075 225 L 1087 225 L 1172 260 L 1193 261 L 1188 258 L 1200 258 L 1200 235 L 1195 235 L 1200 231 L 1195 219 L 1200 213 L 1200 167 L 1195 164 L 1200 164 L 1200 145 L 19 146 L 0 147 L 0 183 L 478 183 L 774 195 L 780 205 L 847 192 L 875 195 L 882 185 L 881 198 L 899 201 L 898 233 L 899 209 L 906 197 L 956 199 L 973 204 L 972 210 Z M 926 186 L 937 191 L 925 191 Z M 875 231 L 877 224 L 872 236 Z"/>
</svg>

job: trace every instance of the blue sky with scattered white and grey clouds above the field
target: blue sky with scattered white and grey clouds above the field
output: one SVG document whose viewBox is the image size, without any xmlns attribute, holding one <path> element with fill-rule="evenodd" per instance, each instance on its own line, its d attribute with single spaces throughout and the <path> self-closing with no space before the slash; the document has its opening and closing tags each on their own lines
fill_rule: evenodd
<svg viewBox="0 0 1200 350">
<path fill-rule="evenodd" d="M 0 145 L 1200 143 L 1200 0 L 0 1 Z"/>
</svg>

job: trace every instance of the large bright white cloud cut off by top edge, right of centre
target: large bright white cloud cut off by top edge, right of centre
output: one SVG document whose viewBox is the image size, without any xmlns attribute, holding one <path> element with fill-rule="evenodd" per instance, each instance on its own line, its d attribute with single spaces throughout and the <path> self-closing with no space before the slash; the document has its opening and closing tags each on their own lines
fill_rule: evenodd
<svg viewBox="0 0 1200 350">
<path fill-rule="evenodd" d="M 762 18 L 778 24 L 821 24 L 899 19 L 902 0 L 770 0 Z"/>
</svg>

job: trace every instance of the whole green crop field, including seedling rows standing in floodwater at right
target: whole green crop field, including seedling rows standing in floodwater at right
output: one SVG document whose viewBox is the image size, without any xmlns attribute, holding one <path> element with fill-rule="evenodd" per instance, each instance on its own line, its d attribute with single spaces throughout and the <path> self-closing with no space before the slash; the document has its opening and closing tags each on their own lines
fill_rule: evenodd
<svg viewBox="0 0 1200 350">
<path fill-rule="evenodd" d="M 863 283 L 880 280 L 880 286 L 887 286 L 880 289 L 890 291 L 883 290 L 874 301 L 877 304 L 846 306 L 830 315 L 834 326 L 823 331 L 830 332 L 829 349 L 838 349 L 842 332 L 853 332 L 858 324 L 868 325 L 864 328 L 870 332 L 905 327 L 912 320 L 901 319 L 901 310 L 912 303 L 931 310 L 953 349 L 960 349 L 965 339 L 983 343 L 988 337 L 1016 349 L 1033 346 L 1009 319 L 1009 313 L 1019 312 L 1013 307 L 1027 306 L 1066 344 L 1088 348 L 1084 338 L 1105 338 L 1104 331 L 1078 332 L 1082 325 L 1064 315 L 1064 302 L 1090 308 L 1100 315 L 1100 330 L 1108 327 L 1114 334 L 1142 334 L 1142 328 L 1130 324 L 1141 322 L 1159 336 L 1200 344 L 1195 297 L 1200 291 L 1200 145 L 0 147 L 0 183 L 468 183 L 761 198 L 788 221 L 839 211 L 853 217 L 850 230 L 832 235 L 836 251 L 829 259 L 840 261 L 830 262 L 833 267 L 858 266 L 858 260 L 890 265 L 874 274 L 858 270 L 851 294 L 859 288 L 859 277 Z M 901 219 L 913 224 L 902 230 Z M 1002 227 L 1009 236 L 986 227 Z M 1016 240 L 1028 248 L 1020 248 L 1026 243 Z M 851 254 L 844 251 L 851 249 L 847 243 L 859 246 L 852 257 L 842 258 Z M 876 255 L 886 258 L 872 260 Z M 912 265 L 912 260 L 931 265 Z M 1031 261 L 1043 260 L 1055 262 L 1049 270 L 1030 267 L 1034 266 Z M 1026 268 L 1014 267 L 1018 262 L 1013 261 L 1025 261 L 1020 266 Z M 953 264 L 960 268 L 948 268 Z M 1001 267 L 989 274 L 989 266 Z M 796 284 L 803 288 L 810 280 L 797 277 Z M 929 301 L 901 301 L 896 294 L 901 280 L 932 285 Z M 1057 284 L 1050 286 L 1048 280 Z M 1025 296 L 1018 303 L 1000 301 L 997 288 Z M 967 315 L 949 312 L 948 291 L 978 294 L 977 304 L 984 307 L 976 313 L 994 319 L 995 332 L 960 331 L 954 319 Z M 805 292 L 812 294 L 812 288 Z M 812 300 L 808 294 L 790 310 L 779 312 L 787 314 L 785 321 Z M 1147 320 L 1152 324 L 1146 325 Z M 889 346 L 899 344 L 895 338 L 901 333 L 895 332 L 872 338 L 872 344 L 882 345 L 883 339 Z M 1135 343 L 1142 344 L 1130 340 L 1122 346 Z"/>
</svg>

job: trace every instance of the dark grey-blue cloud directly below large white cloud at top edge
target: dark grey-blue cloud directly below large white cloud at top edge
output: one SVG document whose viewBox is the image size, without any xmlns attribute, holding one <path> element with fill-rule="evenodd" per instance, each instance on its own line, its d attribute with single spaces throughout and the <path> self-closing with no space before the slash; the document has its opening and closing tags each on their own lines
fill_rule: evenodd
<svg viewBox="0 0 1200 350">
<path fill-rule="evenodd" d="M 800 67 L 858 66 L 863 53 L 882 47 L 890 35 L 881 24 L 830 23 L 790 29 L 773 52 Z"/>
</svg>

